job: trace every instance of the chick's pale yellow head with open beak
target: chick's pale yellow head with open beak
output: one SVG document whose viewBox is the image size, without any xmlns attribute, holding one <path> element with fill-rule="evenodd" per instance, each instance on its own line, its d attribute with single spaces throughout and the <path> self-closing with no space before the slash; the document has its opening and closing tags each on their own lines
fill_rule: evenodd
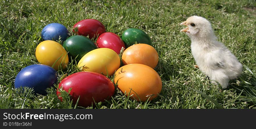
<svg viewBox="0 0 256 129">
<path fill-rule="evenodd" d="M 211 27 L 211 23 L 201 16 L 191 16 L 186 21 L 180 23 L 180 25 L 186 25 L 185 29 L 180 32 L 186 32 L 186 34 L 192 37 L 207 37 L 214 34 Z"/>
</svg>

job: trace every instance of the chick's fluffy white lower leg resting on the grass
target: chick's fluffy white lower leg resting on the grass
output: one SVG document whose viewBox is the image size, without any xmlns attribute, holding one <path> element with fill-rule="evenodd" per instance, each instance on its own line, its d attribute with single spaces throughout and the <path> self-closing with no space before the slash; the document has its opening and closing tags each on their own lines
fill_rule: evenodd
<svg viewBox="0 0 256 129">
<path fill-rule="evenodd" d="M 217 72 L 218 73 L 218 72 Z M 221 84 L 222 89 L 227 88 L 229 79 L 228 76 L 223 74 L 223 73 L 219 73 L 219 74 L 214 74 L 210 77 L 211 80 L 216 80 L 217 82 L 219 82 Z M 214 81 L 211 81 L 211 83 L 217 84 Z"/>
</svg>

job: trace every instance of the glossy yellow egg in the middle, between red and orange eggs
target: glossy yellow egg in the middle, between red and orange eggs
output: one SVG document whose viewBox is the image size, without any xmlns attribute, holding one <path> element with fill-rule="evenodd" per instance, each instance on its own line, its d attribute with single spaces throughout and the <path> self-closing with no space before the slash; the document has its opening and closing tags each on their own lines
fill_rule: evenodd
<svg viewBox="0 0 256 129">
<path fill-rule="evenodd" d="M 78 62 L 78 68 L 81 71 L 103 73 L 104 75 L 113 75 L 119 66 L 118 54 L 109 48 L 94 49 L 85 54 Z"/>
</svg>

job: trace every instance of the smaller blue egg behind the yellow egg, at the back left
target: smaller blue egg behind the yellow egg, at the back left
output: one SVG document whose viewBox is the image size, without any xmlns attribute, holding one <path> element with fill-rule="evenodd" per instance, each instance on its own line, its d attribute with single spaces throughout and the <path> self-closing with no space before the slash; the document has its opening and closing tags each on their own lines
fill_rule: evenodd
<svg viewBox="0 0 256 129">
<path fill-rule="evenodd" d="M 65 41 L 67 33 L 68 30 L 64 25 L 61 25 L 60 23 L 50 23 L 43 28 L 41 37 L 43 40 L 58 41 L 59 36 L 61 36 L 61 40 Z"/>
</svg>

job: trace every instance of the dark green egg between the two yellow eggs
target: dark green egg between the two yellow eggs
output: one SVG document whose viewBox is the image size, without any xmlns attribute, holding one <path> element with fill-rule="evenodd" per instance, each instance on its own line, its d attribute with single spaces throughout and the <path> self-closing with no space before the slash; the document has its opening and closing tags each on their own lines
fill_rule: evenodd
<svg viewBox="0 0 256 129">
<path fill-rule="evenodd" d="M 80 60 L 86 53 L 96 49 L 95 43 L 85 36 L 74 35 L 68 37 L 63 43 L 63 47 L 67 50 L 68 56 L 72 59 Z"/>
</svg>

